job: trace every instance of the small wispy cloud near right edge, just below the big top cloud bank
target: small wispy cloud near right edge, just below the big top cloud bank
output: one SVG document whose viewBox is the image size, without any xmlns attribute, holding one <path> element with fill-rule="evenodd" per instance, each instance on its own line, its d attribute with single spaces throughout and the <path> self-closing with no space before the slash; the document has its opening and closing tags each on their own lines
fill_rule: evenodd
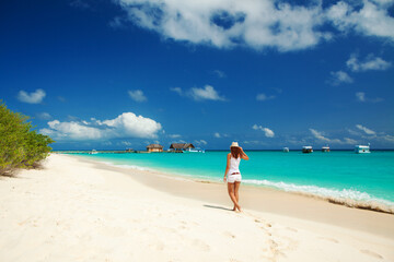
<svg viewBox="0 0 394 262">
<path fill-rule="evenodd" d="M 356 53 L 352 53 L 347 60 L 346 66 L 354 72 L 368 71 L 368 70 L 386 70 L 391 67 L 391 62 L 384 61 L 373 53 L 369 55 L 363 61 L 359 61 Z"/>
</svg>

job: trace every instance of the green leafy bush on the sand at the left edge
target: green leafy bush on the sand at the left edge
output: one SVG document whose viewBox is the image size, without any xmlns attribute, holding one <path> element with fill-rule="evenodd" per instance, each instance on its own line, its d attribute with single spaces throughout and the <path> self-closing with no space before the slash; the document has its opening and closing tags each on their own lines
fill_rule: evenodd
<svg viewBox="0 0 394 262">
<path fill-rule="evenodd" d="M 55 141 L 32 130 L 27 119 L 0 102 L 0 176 L 11 175 L 16 168 L 36 167 L 51 150 L 48 145 Z"/>
</svg>

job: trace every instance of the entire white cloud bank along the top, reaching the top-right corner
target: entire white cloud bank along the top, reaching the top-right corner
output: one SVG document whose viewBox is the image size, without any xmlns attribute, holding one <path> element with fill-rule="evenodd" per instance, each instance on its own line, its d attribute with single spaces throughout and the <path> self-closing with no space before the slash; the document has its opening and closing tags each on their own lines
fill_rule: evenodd
<svg viewBox="0 0 394 262">
<path fill-rule="evenodd" d="M 291 51 L 331 40 L 337 31 L 394 40 L 392 1 L 115 0 L 127 19 L 165 39 L 218 48 Z"/>
</svg>

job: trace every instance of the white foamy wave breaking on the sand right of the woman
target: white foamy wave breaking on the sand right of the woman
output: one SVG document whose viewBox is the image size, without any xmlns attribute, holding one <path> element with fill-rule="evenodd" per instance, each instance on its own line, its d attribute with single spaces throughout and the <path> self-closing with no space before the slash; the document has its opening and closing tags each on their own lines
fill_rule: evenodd
<svg viewBox="0 0 394 262">
<path fill-rule="evenodd" d="M 372 210 L 394 214 L 394 203 L 387 200 L 371 196 L 367 192 L 354 189 L 327 189 L 317 186 L 298 186 L 294 183 L 273 182 L 268 180 L 244 179 L 243 182 L 276 188 L 287 192 L 301 193 L 327 200 L 331 203 L 341 204 L 349 207 Z"/>
</svg>

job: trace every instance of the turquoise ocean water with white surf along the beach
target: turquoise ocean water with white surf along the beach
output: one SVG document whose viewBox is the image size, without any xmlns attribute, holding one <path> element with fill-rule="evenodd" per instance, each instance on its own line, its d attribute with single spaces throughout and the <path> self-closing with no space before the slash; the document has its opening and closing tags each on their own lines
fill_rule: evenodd
<svg viewBox="0 0 394 262">
<path fill-rule="evenodd" d="M 111 165 L 222 181 L 228 153 L 83 155 Z M 250 160 L 242 160 L 240 165 L 243 183 L 394 213 L 394 151 L 373 151 L 370 154 L 355 154 L 352 151 L 246 153 Z"/>
</svg>

